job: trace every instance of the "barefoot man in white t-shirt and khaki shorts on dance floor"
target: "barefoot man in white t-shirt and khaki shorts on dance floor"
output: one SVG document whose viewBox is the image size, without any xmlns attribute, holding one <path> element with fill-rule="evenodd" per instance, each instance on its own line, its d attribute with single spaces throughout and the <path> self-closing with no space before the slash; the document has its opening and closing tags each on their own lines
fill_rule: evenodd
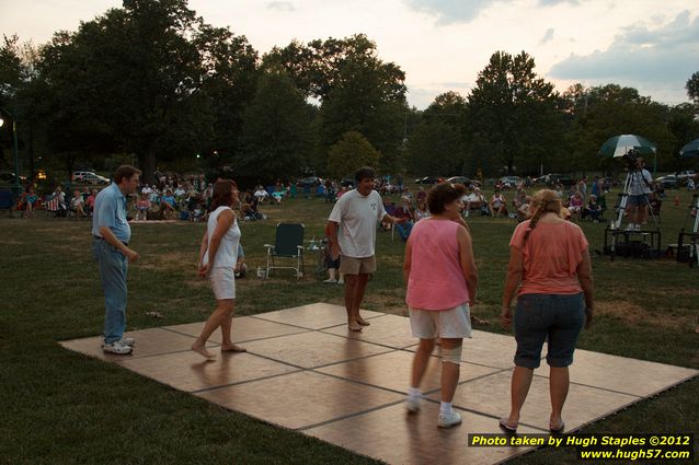
<svg viewBox="0 0 699 465">
<path fill-rule="evenodd" d="M 345 275 L 347 325 L 353 332 L 369 325 L 359 315 L 359 307 L 369 275 L 376 271 L 376 224 L 404 221 L 386 213 L 381 196 L 374 190 L 375 177 L 376 173 L 369 166 L 357 170 L 354 174 L 356 188 L 337 200 L 328 219 L 332 258 L 342 255 L 340 272 Z"/>
</svg>

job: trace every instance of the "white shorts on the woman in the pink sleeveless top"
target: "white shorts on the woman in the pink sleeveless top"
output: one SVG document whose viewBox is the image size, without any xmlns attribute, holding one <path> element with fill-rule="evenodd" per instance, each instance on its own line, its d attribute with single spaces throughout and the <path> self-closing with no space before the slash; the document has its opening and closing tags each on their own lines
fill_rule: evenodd
<svg viewBox="0 0 699 465">
<path fill-rule="evenodd" d="M 450 310 L 419 310 L 410 306 L 408 310 L 410 326 L 415 337 L 421 339 L 471 337 L 471 311 L 468 303 Z"/>
</svg>

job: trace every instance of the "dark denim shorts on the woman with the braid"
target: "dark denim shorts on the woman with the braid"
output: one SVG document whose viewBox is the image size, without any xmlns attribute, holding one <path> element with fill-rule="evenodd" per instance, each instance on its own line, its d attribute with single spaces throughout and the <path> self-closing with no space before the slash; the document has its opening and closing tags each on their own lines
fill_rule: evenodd
<svg viewBox="0 0 699 465">
<path fill-rule="evenodd" d="M 583 294 L 524 294 L 515 312 L 515 364 L 539 368 L 541 348 L 548 339 L 546 361 L 551 367 L 573 363 L 573 352 L 585 324 Z"/>
</svg>

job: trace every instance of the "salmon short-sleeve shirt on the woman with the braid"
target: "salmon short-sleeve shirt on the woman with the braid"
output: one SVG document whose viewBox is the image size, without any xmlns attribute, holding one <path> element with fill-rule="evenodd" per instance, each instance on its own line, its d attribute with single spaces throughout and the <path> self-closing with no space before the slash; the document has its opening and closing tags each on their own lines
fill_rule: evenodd
<svg viewBox="0 0 699 465">
<path fill-rule="evenodd" d="M 539 222 L 525 241 L 529 221 L 517 225 L 509 246 L 523 254 L 522 294 L 576 294 L 582 292 L 576 269 L 587 251 L 587 239 L 575 223 Z"/>
</svg>

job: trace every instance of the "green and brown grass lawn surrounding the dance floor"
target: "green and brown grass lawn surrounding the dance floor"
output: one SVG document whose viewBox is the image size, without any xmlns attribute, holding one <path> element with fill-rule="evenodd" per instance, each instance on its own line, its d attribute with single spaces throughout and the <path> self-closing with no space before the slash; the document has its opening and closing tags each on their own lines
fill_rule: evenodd
<svg viewBox="0 0 699 465">
<path fill-rule="evenodd" d="M 676 195 L 681 197 L 679 207 L 672 202 Z M 689 199 L 686 191 L 668 191 L 663 249 L 676 242 Z M 254 277 L 277 221 L 301 221 L 307 239 L 319 237 L 330 208 L 322 200 L 299 198 L 262 207 L 268 220 L 242 225 L 251 274 L 238 283 L 238 315 L 318 301 L 342 304 L 341 287 L 322 284 L 313 276 L 311 256 L 300 281 Z M 503 333 L 496 316 L 515 222 L 472 217 L 469 223 L 480 272 L 473 311 L 491 321 L 482 329 Z M 591 248 L 601 249 L 604 225 L 582 226 Z M 62 349 L 56 341 L 102 329 L 104 305 L 90 253 L 90 223 L 0 219 L 0 463 L 376 463 Z M 128 329 L 209 315 L 214 295 L 195 274 L 203 231 L 204 224 L 184 222 L 133 226 L 131 246 L 141 259 L 129 268 Z M 403 244 L 379 233 L 377 249 L 379 270 L 364 307 L 404 315 Z M 580 348 L 699 368 L 699 269 L 672 259 L 612 263 L 607 256 L 594 256 L 593 266 L 597 313 Z M 152 311 L 163 318 L 146 315 Z M 583 432 L 699 432 L 697 411 L 695 379 Z M 513 461 L 576 462 L 572 449 L 538 451 Z"/>
</svg>

